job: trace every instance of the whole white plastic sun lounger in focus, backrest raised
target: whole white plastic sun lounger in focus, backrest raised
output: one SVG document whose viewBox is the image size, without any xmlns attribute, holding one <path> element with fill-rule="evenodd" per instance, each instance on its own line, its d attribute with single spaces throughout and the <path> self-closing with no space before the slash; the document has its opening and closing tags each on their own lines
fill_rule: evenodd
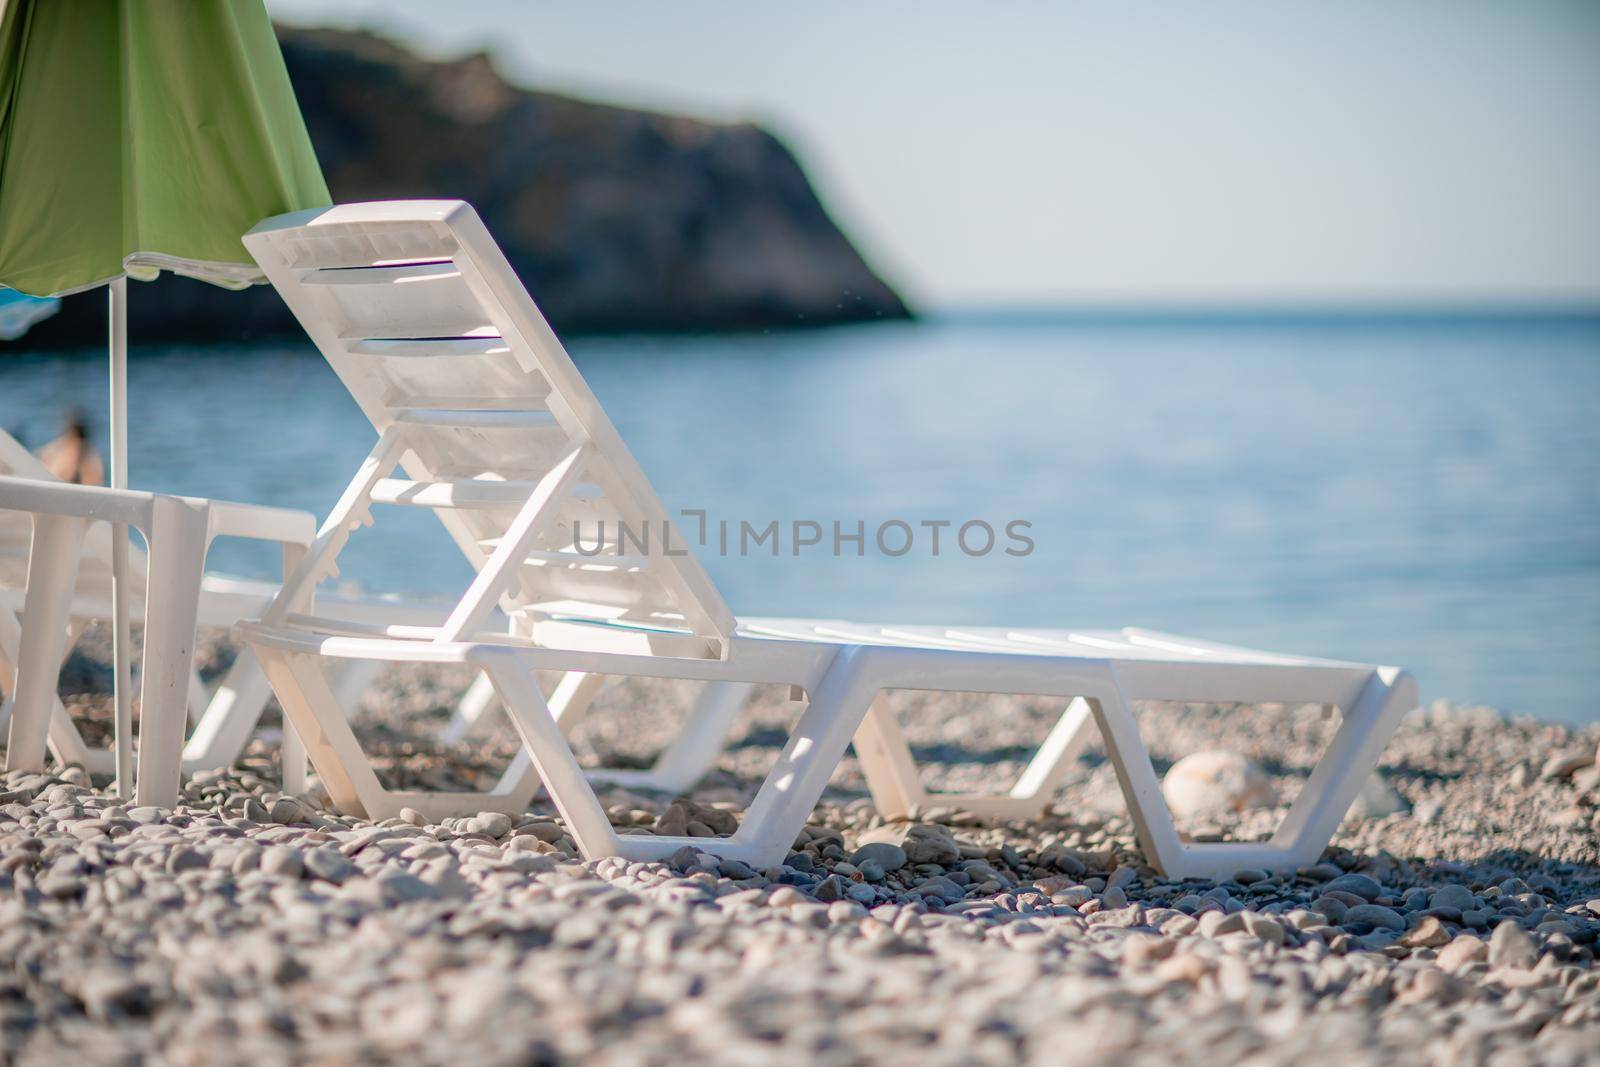
<svg viewBox="0 0 1600 1067">
<path fill-rule="evenodd" d="M 1003 817 L 1038 811 L 1093 723 L 1150 862 L 1174 877 L 1282 870 L 1317 859 L 1414 704 L 1411 678 L 1394 667 L 1144 630 L 738 622 L 675 530 L 682 553 L 576 550 L 579 523 L 592 549 L 600 518 L 611 530 L 619 520 L 654 531 L 670 522 L 470 206 L 306 211 L 267 219 L 245 245 L 379 434 L 283 592 L 259 622 L 240 627 L 344 811 L 522 811 L 542 781 L 587 856 L 661 859 L 693 845 L 766 865 L 787 853 L 853 739 L 885 813 L 928 801 L 878 699 L 885 689 L 1008 693 L 1059 697 L 1061 723 L 1010 795 L 942 803 Z M 317 584 L 376 507 L 430 509 L 477 569 L 443 625 L 355 625 L 315 606 Z M 507 624 L 491 621 L 496 608 Z M 328 685 L 330 665 L 347 659 L 477 667 L 523 753 L 488 792 L 386 789 Z M 550 704 L 534 670 L 566 672 Z M 608 675 L 714 683 L 722 696 L 702 705 L 691 750 L 680 753 L 690 769 L 714 755 L 739 686 L 778 683 L 808 697 L 733 837 L 613 830 L 563 737 Z M 1162 800 L 1133 701 L 1320 704 L 1341 709 L 1342 723 L 1270 841 L 1189 843 Z"/>
</svg>

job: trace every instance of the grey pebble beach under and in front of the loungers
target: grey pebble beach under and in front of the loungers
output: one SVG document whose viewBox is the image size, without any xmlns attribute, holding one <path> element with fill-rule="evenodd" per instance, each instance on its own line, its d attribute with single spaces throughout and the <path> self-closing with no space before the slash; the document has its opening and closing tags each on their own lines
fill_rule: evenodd
<svg viewBox="0 0 1600 1067">
<path fill-rule="evenodd" d="M 219 662 L 229 649 L 216 646 Z M 94 670 L 69 705 L 104 718 Z M 386 673 L 358 718 L 392 784 L 486 785 L 509 731 L 430 741 L 466 678 Z M 574 739 L 640 765 L 693 696 L 618 683 Z M 726 833 L 797 705 L 763 696 L 627 832 Z M 1059 709 L 926 699 L 928 785 L 1010 784 Z M 1334 723 L 1149 705 L 1158 771 L 1224 750 L 1267 835 Z M 0 779 L 0 1064 L 1600 1064 L 1600 726 L 1435 702 L 1320 862 L 1171 881 L 1098 752 L 1040 819 L 883 822 L 846 760 L 782 865 L 586 862 L 554 811 L 379 824 L 277 790 L 274 725 L 176 809 L 82 768 Z M 1315 1061 L 1312 1059 L 1315 1057 Z"/>
</svg>

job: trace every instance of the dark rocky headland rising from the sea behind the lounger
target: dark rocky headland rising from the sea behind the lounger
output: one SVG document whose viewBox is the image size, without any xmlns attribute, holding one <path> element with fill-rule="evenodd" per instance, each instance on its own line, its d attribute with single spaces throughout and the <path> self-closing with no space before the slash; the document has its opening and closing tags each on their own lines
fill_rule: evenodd
<svg viewBox="0 0 1600 1067">
<path fill-rule="evenodd" d="M 613 107 L 507 83 L 486 56 L 432 62 L 387 40 L 280 27 L 336 200 L 461 197 L 557 330 L 725 330 L 907 310 L 754 125 Z M 8 347 L 96 344 L 104 298 Z M 136 342 L 298 331 L 266 286 L 134 286 Z"/>
</svg>

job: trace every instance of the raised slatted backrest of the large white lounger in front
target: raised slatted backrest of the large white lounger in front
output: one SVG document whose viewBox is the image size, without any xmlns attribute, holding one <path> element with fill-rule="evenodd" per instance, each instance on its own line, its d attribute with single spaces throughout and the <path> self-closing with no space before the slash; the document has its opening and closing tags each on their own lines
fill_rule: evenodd
<svg viewBox="0 0 1600 1067">
<path fill-rule="evenodd" d="M 526 632 L 627 621 L 725 654 L 731 613 L 472 206 L 302 211 L 245 245 L 373 427 L 403 445 L 410 482 L 386 478 L 373 501 L 434 509 L 478 569 L 462 605 L 477 595 L 482 616 L 491 584 L 488 606 Z"/>
</svg>

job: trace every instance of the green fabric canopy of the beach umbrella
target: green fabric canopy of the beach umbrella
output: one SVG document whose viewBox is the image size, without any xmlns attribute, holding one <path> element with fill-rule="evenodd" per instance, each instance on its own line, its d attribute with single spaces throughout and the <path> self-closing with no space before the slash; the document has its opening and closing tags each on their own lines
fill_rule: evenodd
<svg viewBox="0 0 1600 1067">
<path fill-rule="evenodd" d="M 242 288 L 240 235 L 326 203 L 259 0 L 0 0 L 0 285 Z"/>
</svg>

